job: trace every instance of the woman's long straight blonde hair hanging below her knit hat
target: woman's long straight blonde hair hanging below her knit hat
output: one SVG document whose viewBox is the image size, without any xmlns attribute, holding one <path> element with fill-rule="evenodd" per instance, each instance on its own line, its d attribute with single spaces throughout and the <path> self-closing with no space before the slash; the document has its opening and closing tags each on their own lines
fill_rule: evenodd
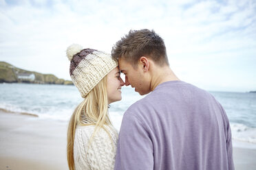
<svg viewBox="0 0 256 170">
<path fill-rule="evenodd" d="M 67 129 L 67 164 L 70 170 L 74 167 L 74 135 L 76 125 L 95 125 L 89 143 L 102 127 L 107 134 L 108 130 L 103 125 L 112 125 L 108 114 L 107 102 L 107 75 L 103 77 L 85 99 L 74 110 Z M 110 134 L 109 134 L 110 136 Z"/>
</svg>

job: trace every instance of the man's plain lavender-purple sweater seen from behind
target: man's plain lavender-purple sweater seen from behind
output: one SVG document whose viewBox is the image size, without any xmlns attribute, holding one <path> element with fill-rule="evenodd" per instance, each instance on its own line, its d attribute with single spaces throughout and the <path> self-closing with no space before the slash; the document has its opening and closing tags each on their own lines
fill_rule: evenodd
<svg viewBox="0 0 256 170">
<path fill-rule="evenodd" d="M 234 169 L 224 109 L 191 84 L 158 85 L 125 112 L 115 169 Z"/>
</svg>

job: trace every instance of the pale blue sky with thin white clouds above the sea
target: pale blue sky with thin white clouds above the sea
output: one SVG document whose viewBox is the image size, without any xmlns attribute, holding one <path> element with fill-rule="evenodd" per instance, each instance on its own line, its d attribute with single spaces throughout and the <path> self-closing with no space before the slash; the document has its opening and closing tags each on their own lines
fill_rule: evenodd
<svg viewBox="0 0 256 170">
<path fill-rule="evenodd" d="M 256 90 L 256 1 L 0 0 L 0 61 L 71 80 L 65 50 L 111 53 L 130 29 L 153 29 L 171 69 L 205 90 Z"/>
</svg>

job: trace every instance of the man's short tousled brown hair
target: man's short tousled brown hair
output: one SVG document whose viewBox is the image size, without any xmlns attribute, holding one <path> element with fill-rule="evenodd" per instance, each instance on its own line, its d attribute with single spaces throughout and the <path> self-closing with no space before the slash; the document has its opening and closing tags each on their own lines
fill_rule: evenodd
<svg viewBox="0 0 256 170">
<path fill-rule="evenodd" d="M 164 40 L 149 29 L 130 30 L 111 51 L 112 58 L 124 58 L 136 68 L 140 57 L 151 58 L 156 64 L 169 65 Z"/>
</svg>

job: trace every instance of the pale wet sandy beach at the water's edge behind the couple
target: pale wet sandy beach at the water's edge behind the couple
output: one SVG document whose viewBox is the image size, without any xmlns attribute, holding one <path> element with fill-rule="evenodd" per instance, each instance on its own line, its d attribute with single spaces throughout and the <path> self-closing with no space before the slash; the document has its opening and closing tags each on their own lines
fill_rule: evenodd
<svg viewBox="0 0 256 170">
<path fill-rule="evenodd" d="M 0 170 L 68 169 L 67 122 L 0 111 Z M 233 148 L 235 169 L 253 170 L 256 149 Z"/>
</svg>

